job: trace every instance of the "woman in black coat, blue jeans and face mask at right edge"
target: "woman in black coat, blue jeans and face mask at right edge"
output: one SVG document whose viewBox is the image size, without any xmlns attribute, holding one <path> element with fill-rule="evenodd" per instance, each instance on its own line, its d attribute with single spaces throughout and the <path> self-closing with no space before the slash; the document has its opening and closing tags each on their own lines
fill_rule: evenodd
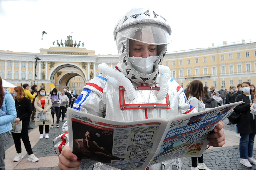
<svg viewBox="0 0 256 170">
<path fill-rule="evenodd" d="M 235 111 L 240 113 L 240 119 L 237 123 L 238 133 L 240 133 L 240 163 L 246 167 L 252 167 L 251 163 L 256 165 L 256 160 L 253 156 L 253 142 L 256 132 L 256 117 L 250 113 L 250 107 L 256 103 L 254 96 L 251 95 L 249 82 L 242 83 L 243 94 L 240 94 L 235 99 L 244 103 L 235 107 Z"/>
</svg>

